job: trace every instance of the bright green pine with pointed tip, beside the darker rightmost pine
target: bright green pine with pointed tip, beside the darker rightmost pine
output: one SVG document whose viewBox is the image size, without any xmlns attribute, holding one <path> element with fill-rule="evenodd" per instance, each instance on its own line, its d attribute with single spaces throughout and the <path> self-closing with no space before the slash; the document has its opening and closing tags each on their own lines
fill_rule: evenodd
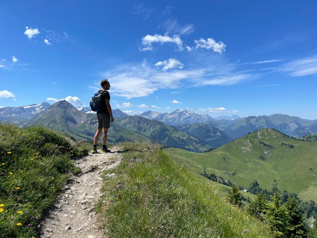
<svg viewBox="0 0 317 238">
<path fill-rule="evenodd" d="M 273 204 L 267 203 L 263 221 L 268 223 L 274 237 L 286 237 L 289 228 L 289 215 L 287 208 L 281 206 L 281 196 L 275 191 L 271 196 Z"/>
</svg>

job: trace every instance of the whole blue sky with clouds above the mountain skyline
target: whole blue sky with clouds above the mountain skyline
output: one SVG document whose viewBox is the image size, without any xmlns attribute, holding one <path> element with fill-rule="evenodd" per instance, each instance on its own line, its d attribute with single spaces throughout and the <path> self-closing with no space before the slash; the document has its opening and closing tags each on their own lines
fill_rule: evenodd
<svg viewBox="0 0 317 238">
<path fill-rule="evenodd" d="M 316 1 L 0 3 L 0 106 L 317 119 Z"/>
</svg>

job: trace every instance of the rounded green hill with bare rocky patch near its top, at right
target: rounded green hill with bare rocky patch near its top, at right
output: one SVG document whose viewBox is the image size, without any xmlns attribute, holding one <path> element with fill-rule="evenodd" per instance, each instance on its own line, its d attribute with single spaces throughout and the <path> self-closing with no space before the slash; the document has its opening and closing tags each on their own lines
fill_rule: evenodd
<svg viewBox="0 0 317 238">
<path fill-rule="evenodd" d="M 259 140 L 274 148 L 260 145 Z M 281 145 L 282 141 L 295 148 Z M 245 188 L 256 179 L 262 188 L 277 185 L 281 190 L 300 195 L 303 200 L 316 199 L 317 144 L 314 142 L 294 140 L 273 129 L 261 129 L 204 154 L 175 148 L 167 151 L 198 173 L 206 168 L 207 173 L 215 173 Z M 264 160 L 260 159 L 261 155 Z M 237 174 L 233 176 L 234 171 Z"/>
</svg>

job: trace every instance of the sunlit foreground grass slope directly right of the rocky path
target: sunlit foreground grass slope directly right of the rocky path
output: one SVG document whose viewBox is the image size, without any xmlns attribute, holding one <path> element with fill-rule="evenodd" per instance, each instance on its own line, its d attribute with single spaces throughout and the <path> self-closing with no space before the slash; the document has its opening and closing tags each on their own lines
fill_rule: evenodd
<svg viewBox="0 0 317 238">
<path fill-rule="evenodd" d="M 118 176 L 105 180 L 96 206 L 110 237 L 272 237 L 264 223 L 230 205 L 217 187 L 163 151 L 126 149 L 131 152 L 113 169 Z"/>
</svg>

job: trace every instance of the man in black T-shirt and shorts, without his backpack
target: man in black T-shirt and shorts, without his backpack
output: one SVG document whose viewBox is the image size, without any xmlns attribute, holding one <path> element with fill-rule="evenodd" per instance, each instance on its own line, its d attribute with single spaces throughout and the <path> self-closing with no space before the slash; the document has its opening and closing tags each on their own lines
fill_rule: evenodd
<svg viewBox="0 0 317 238">
<path fill-rule="evenodd" d="M 107 133 L 108 128 L 110 128 L 110 121 L 113 122 L 113 116 L 110 106 L 110 94 L 107 90 L 110 89 L 110 83 L 107 79 L 101 80 L 100 82 L 101 88 L 97 92 L 101 92 L 101 104 L 103 109 L 100 112 L 97 112 L 97 131 L 94 136 L 94 147 L 91 153 L 97 153 L 97 142 L 102 130 L 102 150 L 101 153 L 110 152 L 110 149 L 107 149 L 106 142 L 107 142 Z"/>
</svg>

